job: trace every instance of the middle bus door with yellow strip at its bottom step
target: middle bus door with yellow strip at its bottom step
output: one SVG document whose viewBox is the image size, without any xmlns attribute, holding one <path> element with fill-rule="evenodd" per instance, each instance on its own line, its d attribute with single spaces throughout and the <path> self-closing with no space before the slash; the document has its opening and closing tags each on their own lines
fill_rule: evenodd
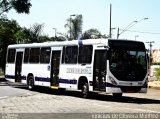
<svg viewBox="0 0 160 119">
<path fill-rule="evenodd" d="M 51 88 L 59 86 L 59 65 L 60 65 L 61 50 L 52 50 L 51 57 Z"/>
</svg>

